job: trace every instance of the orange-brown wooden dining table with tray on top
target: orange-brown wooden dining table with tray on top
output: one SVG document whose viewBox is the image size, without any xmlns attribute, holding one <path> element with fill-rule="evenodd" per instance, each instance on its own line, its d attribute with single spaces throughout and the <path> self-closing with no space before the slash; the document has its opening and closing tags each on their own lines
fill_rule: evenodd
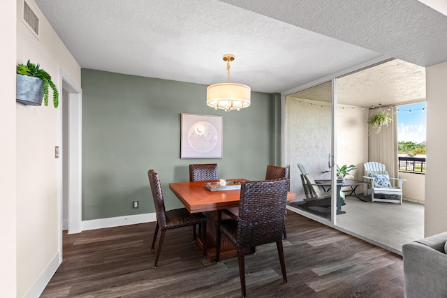
<svg viewBox="0 0 447 298">
<path fill-rule="evenodd" d="M 227 179 L 226 181 L 249 181 L 247 179 Z M 207 258 L 212 262 L 216 259 L 217 216 L 219 210 L 229 209 L 238 213 L 240 201 L 240 189 L 225 191 L 210 191 L 205 188 L 205 183 L 219 181 L 187 181 L 174 182 L 169 188 L 191 213 L 203 212 L 207 216 Z M 295 193 L 288 192 L 287 200 L 295 200 Z M 223 215 L 222 215 L 223 216 Z M 200 248 L 203 247 L 200 232 L 196 233 L 196 241 Z M 251 252 L 251 250 L 248 250 Z M 220 258 L 231 258 L 237 255 L 235 246 L 225 237 L 221 239 Z"/>
</svg>

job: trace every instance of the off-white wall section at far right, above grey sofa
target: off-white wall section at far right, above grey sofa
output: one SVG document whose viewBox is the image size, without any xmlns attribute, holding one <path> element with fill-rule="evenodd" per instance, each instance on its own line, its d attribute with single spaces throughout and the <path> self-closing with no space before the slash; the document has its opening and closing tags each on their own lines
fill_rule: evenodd
<svg viewBox="0 0 447 298">
<path fill-rule="evenodd" d="M 447 231 L 447 62 L 425 68 L 427 77 L 427 173 L 425 237 Z"/>
</svg>

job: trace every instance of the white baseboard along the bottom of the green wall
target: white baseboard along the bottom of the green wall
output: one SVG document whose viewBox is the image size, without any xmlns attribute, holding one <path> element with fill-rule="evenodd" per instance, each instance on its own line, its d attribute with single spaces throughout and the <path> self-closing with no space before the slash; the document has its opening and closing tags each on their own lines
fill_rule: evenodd
<svg viewBox="0 0 447 298">
<path fill-rule="evenodd" d="M 110 218 L 92 219 L 90 221 L 82 221 L 82 230 L 95 230 L 103 228 L 119 227 L 121 225 L 135 225 L 136 223 L 149 223 L 156 221 L 156 214 L 136 214 L 128 216 L 117 216 Z"/>
</svg>

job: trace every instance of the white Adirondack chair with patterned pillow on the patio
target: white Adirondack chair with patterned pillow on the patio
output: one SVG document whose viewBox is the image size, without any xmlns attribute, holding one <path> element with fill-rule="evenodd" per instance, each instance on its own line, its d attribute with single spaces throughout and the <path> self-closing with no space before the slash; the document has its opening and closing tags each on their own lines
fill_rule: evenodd
<svg viewBox="0 0 447 298">
<path fill-rule="evenodd" d="M 383 163 L 369 161 L 363 165 L 368 182 L 365 195 L 371 194 L 372 202 L 391 202 L 402 204 L 402 183 L 406 179 L 392 178 L 386 171 Z M 393 186 L 391 180 L 397 181 L 398 186 Z"/>
</svg>

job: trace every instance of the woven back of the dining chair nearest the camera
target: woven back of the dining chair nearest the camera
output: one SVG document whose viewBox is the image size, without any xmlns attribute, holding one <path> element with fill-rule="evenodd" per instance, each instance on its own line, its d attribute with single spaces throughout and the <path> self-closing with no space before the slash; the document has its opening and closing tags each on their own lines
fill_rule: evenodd
<svg viewBox="0 0 447 298">
<path fill-rule="evenodd" d="M 249 248 L 281 241 L 289 180 L 242 183 L 236 246 Z"/>
</svg>

